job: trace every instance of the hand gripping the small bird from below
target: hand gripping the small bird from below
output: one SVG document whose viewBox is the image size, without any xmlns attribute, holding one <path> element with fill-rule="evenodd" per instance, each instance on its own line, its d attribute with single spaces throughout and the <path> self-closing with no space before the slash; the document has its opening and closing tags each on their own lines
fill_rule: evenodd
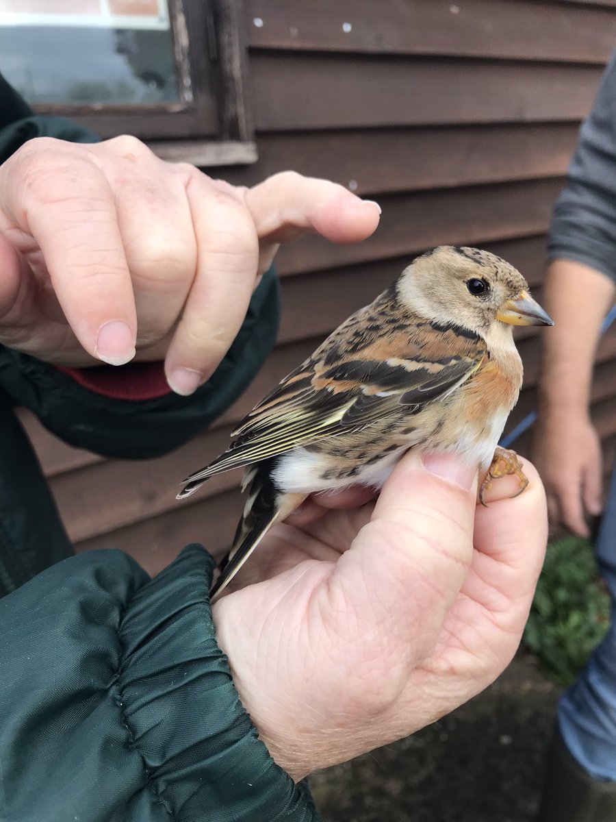
<svg viewBox="0 0 616 822">
<path fill-rule="evenodd" d="M 540 479 L 525 462 L 526 491 L 503 478 L 484 508 L 457 459 L 425 465 L 411 452 L 360 507 L 320 495 L 315 519 L 313 498 L 214 605 L 241 700 L 296 780 L 434 722 L 515 653 L 545 551 Z"/>
</svg>

